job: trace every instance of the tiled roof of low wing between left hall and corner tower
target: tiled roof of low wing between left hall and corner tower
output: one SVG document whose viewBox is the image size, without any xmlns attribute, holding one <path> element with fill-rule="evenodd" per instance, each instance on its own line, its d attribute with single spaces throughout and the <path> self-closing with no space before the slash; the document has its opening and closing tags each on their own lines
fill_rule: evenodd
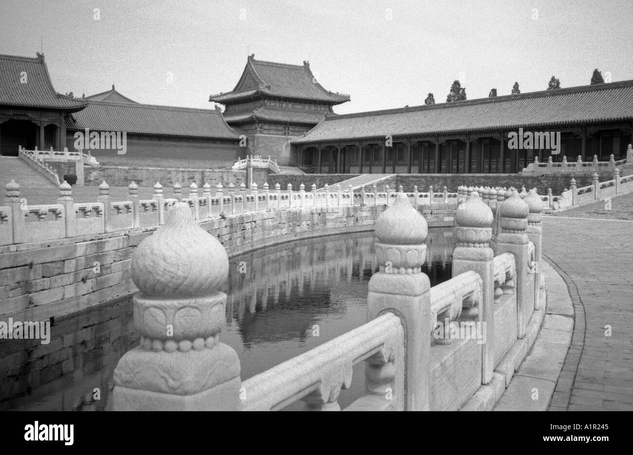
<svg viewBox="0 0 633 455">
<path fill-rule="evenodd" d="M 67 119 L 71 130 L 121 131 L 144 135 L 239 139 L 220 109 L 175 108 L 139 103 L 89 101 Z"/>
</svg>

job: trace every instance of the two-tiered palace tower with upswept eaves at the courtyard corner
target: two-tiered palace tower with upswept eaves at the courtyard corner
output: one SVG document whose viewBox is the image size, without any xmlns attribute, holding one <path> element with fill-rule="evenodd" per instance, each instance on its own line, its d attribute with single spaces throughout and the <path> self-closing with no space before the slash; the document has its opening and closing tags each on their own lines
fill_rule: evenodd
<svg viewBox="0 0 633 455">
<path fill-rule="evenodd" d="M 225 120 L 248 137 L 251 153 L 287 165 L 291 140 L 332 115 L 332 106 L 346 103 L 349 95 L 325 90 L 307 61 L 288 65 L 251 54 L 235 88 L 211 95 L 209 101 L 225 106 Z"/>
</svg>

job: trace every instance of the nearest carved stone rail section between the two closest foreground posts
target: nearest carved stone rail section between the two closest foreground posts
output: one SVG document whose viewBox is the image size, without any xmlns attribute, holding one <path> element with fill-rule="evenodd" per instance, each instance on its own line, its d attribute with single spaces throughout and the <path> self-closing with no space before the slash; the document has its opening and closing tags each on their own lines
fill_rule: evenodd
<svg viewBox="0 0 633 455">
<path fill-rule="evenodd" d="M 337 399 L 341 389 L 351 385 L 352 367 L 367 361 L 374 373 L 368 377 L 369 395 L 351 408 L 401 411 L 403 351 L 400 319 L 391 313 L 382 315 L 242 382 L 241 409 L 276 411 L 302 400 L 309 410 L 340 411 Z M 383 398 L 389 393 L 386 389 L 391 389 L 394 399 Z"/>
</svg>

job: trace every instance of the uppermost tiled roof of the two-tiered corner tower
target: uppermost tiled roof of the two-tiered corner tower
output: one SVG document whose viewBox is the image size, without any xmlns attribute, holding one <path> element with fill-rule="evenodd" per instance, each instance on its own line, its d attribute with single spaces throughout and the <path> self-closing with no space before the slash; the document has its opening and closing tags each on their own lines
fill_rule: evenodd
<svg viewBox="0 0 633 455">
<path fill-rule="evenodd" d="M 318 84 L 307 61 L 303 65 L 288 65 L 256 60 L 254 54 L 249 56 L 235 88 L 228 93 L 211 95 L 209 101 L 234 104 L 256 95 L 324 101 L 330 105 L 349 101 L 349 95 L 329 92 Z"/>
</svg>

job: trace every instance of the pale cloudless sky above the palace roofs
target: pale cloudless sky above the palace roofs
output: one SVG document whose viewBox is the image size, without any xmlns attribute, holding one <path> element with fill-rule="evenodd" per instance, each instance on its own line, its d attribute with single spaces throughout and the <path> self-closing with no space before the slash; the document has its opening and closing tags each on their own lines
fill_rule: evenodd
<svg viewBox="0 0 633 455">
<path fill-rule="evenodd" d="M 0 0 L 0 54 L 44 51 L 58 92 L 213 108 L 246 58 L 310 68 L 336 113 L 633 79 L 633 1 Z"/>
</svg>

